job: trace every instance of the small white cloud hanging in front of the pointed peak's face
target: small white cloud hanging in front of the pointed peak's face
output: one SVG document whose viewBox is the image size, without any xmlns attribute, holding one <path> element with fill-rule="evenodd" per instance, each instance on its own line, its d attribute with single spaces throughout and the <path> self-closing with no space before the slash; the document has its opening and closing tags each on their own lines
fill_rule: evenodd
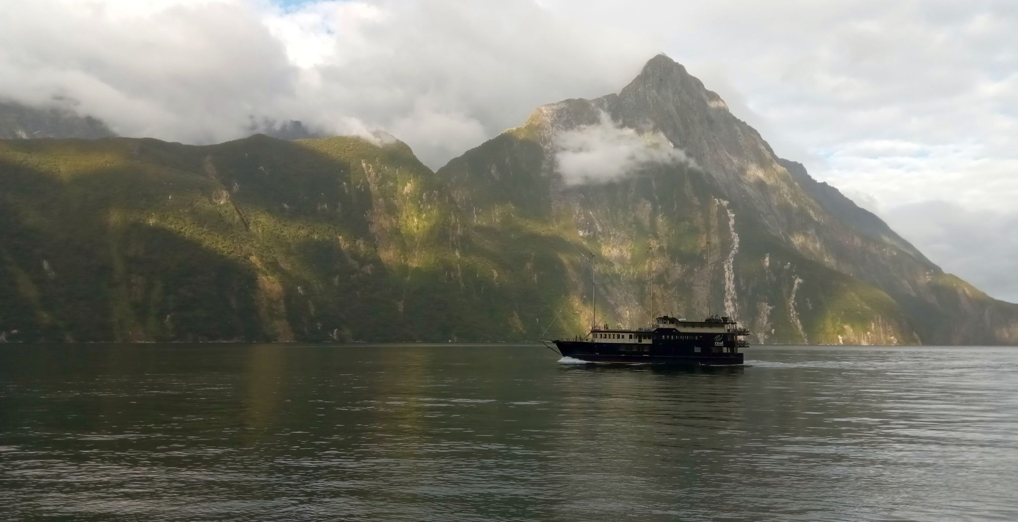
<svg viewBox="0 0 1018 522">
<path fill-rule="evenodd" d="M 604 111 L 598 123 L 557 132 L 553 143 L 556 171 L 568 185 L 613 181 L 648 165 L 696 166 L 660 131 L 620 126 Z"/>
</svg>

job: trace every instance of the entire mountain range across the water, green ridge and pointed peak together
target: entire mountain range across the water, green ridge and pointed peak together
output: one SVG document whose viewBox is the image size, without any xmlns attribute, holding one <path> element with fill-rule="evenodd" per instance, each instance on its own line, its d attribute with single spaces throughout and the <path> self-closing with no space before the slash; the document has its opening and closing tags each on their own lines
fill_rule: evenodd
<svg viewBox="0 0 1018 522">
<path fill-rule="evenodd" d="M 620 168 L 581 182 L 569 142 Z M 1018 343 L 1018 305 L 778 158 L 664 55 L 438 172 L 386 134 L 6 140 L 0 182 L 0 340 L 518 341 L 553 317 L 569 335 L 592 268 L 599 323 L 713 311 L 757 343 Z"/>
</svg>

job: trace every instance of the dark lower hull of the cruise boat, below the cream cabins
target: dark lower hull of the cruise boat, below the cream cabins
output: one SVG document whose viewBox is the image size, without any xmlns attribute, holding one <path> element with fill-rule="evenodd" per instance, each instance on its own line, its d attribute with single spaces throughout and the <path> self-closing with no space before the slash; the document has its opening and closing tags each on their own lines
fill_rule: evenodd
<svg viewBox="0 0 1018 522">
<path fill-rule="evenodd" d="M 643 352 L 623 351 L 625 345 L 612 343 L 591 343 L 587 341 L 555 341 L 555 346 L 563 357 L 586 362 L 609 364 L 667 364 L 667 365 L 734 365 L 742 364 L 739 352 L 693 352 L 669 349 L 672 347 L 647 347 Z"/>
</svg>

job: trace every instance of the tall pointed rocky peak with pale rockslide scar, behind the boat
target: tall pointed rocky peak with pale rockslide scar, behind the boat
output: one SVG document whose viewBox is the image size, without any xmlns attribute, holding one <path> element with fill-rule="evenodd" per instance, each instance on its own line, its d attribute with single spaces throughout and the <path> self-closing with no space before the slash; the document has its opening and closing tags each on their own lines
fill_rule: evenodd
<svg viewBox="0 0 1018 522">
<path fill-rule="evenodd" d="M 556 141 L 604 115 L 662 133 L 694 167 L 563 183 Z M 777 157 L 665 55 L 618 94 L 541 107 L 438 174 L 482 221 L 539 221 L 592 251 L 610 299 L 599 312 L 613 323 L 639 322 L 657 295 L 655 311 L 721 311 L 756 342 L 1018 342 L 1018 306 L 945 274 L 879 218 Z"/>
</svg>

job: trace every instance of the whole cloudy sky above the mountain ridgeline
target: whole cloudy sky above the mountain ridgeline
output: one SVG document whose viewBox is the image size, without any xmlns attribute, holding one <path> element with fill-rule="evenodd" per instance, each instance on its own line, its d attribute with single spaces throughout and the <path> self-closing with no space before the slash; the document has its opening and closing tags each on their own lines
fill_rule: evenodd
<svg viewBox="0 0 1018 522">
<path fill-rule="evenodd" d="M 949 272 L 1018 301 L 1013 0 L 0 0 L 0 97 L 123 135 L 385 129 L 433 167 L 658 52 Z"/>
</svg>

